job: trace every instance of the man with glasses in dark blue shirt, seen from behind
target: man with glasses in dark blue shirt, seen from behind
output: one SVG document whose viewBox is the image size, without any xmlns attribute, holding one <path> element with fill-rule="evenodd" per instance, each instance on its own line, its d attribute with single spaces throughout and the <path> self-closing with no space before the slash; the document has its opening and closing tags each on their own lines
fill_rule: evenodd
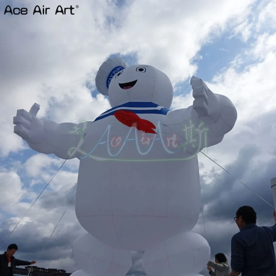
<svg viewBox="0 0 276 276">
<path fill-rule="evenodd" d="M 230 276 L 275 276 L 276 213 L 274 226 L 256 225 L 257 215 L 250 206 L 242 206 L 234 220 L 240 232 L 231 240 Z"/>
</svg>

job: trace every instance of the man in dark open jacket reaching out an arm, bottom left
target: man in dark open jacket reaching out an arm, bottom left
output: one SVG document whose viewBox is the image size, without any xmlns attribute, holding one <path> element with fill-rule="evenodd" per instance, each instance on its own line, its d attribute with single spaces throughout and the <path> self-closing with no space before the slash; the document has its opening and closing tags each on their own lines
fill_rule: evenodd
<svg viewBox="0 0 276 276">
<path fill-rule="evenodd" d="M 0 276 L 13 276 L 14 266 L 28 266 L 36 263 L 35 261 L 27 262 L 15 259 L 13 255 L 18 250 L 15 243 L 10 244 L 7 251 L 0 255 Z"/>
</svg>

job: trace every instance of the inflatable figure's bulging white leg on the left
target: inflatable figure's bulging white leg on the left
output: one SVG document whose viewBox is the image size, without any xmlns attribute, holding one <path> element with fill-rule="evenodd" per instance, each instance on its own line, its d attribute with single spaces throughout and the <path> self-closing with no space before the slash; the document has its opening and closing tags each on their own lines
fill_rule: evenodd
<svg viewBox="0 0 276 276">
<path fill-rule="evenodd" d="M 132 263 L 130 251 L 110 247 L 89 233 L 75 240 L 73 255 L 79 269 L 93 276 L 125 276 Z"/>
</svg>

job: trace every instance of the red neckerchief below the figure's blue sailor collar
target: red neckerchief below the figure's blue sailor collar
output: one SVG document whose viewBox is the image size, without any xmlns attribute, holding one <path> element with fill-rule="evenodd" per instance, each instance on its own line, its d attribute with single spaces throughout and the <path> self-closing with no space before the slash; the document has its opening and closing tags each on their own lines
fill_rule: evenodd
<svg viewBox="0 0 276 276">
<path fill-rule="evenodd" d="M 141 119 L 134 112 L 129 110 L 118 110 L 113 114 L 116 119 L 124 125 L 129 127 L 134 126 L 138 130 L 142 130 L 145 133 L 154 133 L 157 134 L 152 128 L 155 128 L 155 125 L 148 120 Z"/>
</svg>

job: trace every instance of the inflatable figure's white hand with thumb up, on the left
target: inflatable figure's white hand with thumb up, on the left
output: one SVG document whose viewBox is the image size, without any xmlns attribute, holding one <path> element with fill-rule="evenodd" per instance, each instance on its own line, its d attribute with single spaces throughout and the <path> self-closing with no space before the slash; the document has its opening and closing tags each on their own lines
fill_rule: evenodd
<svg viewBox="0 0 276 276">
<path fill-rule="evenodd" d="M 22 137 L 28 143 L 36 144 L 42 141 L 43 121 L 36 118 L 36 114 L 40 109 L 35 103 L 30 112 L 24 109 L 18 109 L 16 117 L 13 117 L 13 132 Z"/>
</svg>

